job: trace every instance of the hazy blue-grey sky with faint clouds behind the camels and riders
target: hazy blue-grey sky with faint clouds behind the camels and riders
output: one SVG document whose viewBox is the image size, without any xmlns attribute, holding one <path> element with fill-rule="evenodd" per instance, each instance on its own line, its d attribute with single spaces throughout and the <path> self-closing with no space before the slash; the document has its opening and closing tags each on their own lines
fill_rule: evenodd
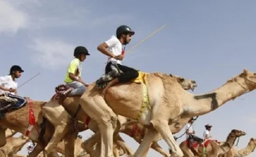
<svg viewBox="0 0 256 157">
<path fill-rule="evenodd" d="M 76 46 L 85 46 L 91 55 L 83 63 L 82 78 L 96 81 L 104 72 L 106 56 L 98 44 L 115 35 L 119 25 L 129 25 L 136 33 L 126 50 L 147 35 L 167 25 L 122 62 L 144 72 L 164 72 L 197 81 L 194 94 L 221 87 L 243 68 L 256 72 L 256 1 L 85 1 L 85 0 L 0 0 L 0 75 L 12 65 L 25 72 L 18 78 L 20 96 L 47 101 L 63 83 Z M 225 141 L 232 129 L 244 130 L 238 149 L 256 138 L 255 91 L 227 102 L 202 115 L 195 122 L 196 134 L 212 124 L 214 139 Z M 175 136 L 182 134 L 181 130 Z M 81 132 L 87 139 L 91 132 Z M 133 139 L 122 137 L 134 149 Z M 183 141 L 185 136 L 178 140 Z M 168 151 L 165 141 L 160 145 Z M 23 148 L 20 154 L 26 154 Z M 255 156 L 256 152 L 249 156 Z M 160 156 L 150 149 L 148 156 Z"/>
</svg>

